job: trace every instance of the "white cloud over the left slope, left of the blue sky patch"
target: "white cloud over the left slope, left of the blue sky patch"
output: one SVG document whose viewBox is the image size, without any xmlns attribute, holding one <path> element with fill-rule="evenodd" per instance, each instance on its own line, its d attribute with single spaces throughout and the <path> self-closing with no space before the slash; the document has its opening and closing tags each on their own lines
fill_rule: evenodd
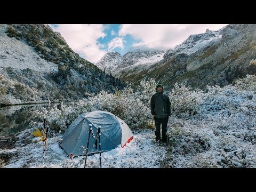
<svg viewBox="0 0 256 192">
<path fill-rule="evenodd" d="M 98 24 L 60 24 L 53 27 L 53 30 L 60 32 L 73 51 L 81 53 L 84 59 L 96 63 L 107 53 L 100 50 L 102 44 L 97 42 L 98 38 L 106 36 L 103 33 L 105 28 Z"/>
</svg>

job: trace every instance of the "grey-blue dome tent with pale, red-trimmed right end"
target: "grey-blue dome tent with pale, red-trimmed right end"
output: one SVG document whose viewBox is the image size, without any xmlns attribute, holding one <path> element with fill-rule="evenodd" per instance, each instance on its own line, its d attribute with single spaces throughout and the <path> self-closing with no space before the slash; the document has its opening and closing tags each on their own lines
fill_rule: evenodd
<svg viewBox="0 0 256 192">
<path fill-rule="evenodd" d="M 129 126 L 120 118 L 108 111 L 92 111 L 79 115 L 73 123 L 71 123 L 62 136 L 60 147 L 62 147 L 68 155 L 79 156 L 86 154 L 86 146 L 89 136 L 89 124 L 92 124 L 92 131 L 96 136 L 98 127 L 101 126 L 101 152 L 109 151 L 121 145 L 123 148 L 127 142 L 133 138 L 132 131 Z M 99 152 L 93 147 L 95 139 L 90 135 L 88 154 Z"/>
</svg>

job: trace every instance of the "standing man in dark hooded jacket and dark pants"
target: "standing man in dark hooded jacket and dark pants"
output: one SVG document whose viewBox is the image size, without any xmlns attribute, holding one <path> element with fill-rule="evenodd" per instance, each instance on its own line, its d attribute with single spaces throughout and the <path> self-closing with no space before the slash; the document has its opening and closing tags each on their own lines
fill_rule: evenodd
<svg viewBox="0 0 256 192">
<path fill-rule="evenodd" d="M 162 124 L 162 142 L 167 143 L 167 123 L 171 116 L 171 102 L 167 94 L 164 93 L 164 86 L 161 83 L 156 85 L 156 93 L 151 97 L 151 114 L 156 125 L 156 141 L 161 142 L 160 126 Z"/>
</svg>

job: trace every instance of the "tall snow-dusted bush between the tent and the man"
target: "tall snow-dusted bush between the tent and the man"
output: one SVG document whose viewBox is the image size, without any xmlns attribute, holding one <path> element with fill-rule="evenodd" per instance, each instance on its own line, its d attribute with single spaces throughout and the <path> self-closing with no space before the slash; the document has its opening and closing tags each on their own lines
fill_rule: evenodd
<svg viewBox="0 0 256 192">
<path fill-rule="evenodd" d="M 124 90 L 114 94 L 102 91 L 94 98 L 99 103 L 97 109 L 113 113 L 123 119 L 131 129 L 152 126 L 150 99 L 155 93 L 155 84 L 154 79 L 144 79 L 136 91 L 133 91 L 130 83 L 127 83 L 128 86 Z"/>
</svg>

